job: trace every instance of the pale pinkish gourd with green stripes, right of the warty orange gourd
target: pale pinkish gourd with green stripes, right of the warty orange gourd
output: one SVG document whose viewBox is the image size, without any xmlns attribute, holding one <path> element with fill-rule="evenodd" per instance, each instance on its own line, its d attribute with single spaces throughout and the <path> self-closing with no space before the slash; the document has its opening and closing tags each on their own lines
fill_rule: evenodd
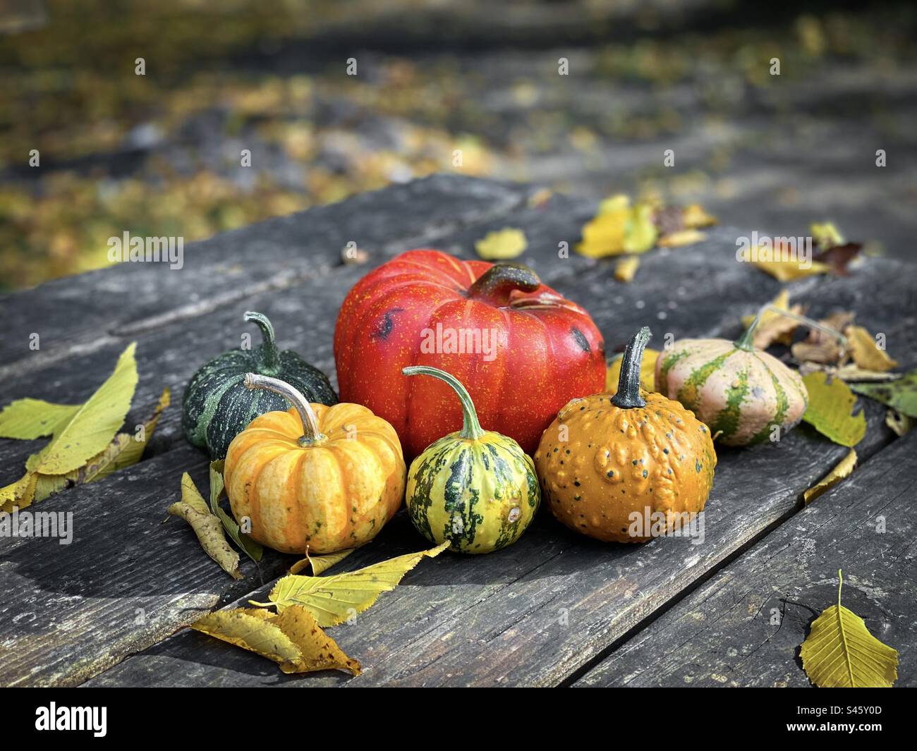
<svg viewBox="0 0 917 751">
<path fill-rule="evenodd" d="M 798 372 L 754 347 L 756 326 L 757 319 L 735 342 L 680 339 L 656 360 L 657 392 L 690 409 L 726 446 L 779 439 L 809 400 Z"/>
</svg>

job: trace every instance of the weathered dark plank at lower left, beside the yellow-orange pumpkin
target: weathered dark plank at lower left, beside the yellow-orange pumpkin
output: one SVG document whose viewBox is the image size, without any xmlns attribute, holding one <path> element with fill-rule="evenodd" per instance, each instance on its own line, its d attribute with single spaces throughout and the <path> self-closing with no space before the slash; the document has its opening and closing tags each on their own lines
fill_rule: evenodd
<svg viewBox="0 0 917 751">
<path fill-rule="evenodd" d="M 176 448 L 33 505 L 72 513 L 69 545 L 0 539 L 0 685 L 77 684 L 289 566 L 271 551 L 260 567 L 243 557 L 246 579 L 232 580 L 166 514 L 182 471 L 206 493 L 206 467 L 200 452 Z"/>
</svg>

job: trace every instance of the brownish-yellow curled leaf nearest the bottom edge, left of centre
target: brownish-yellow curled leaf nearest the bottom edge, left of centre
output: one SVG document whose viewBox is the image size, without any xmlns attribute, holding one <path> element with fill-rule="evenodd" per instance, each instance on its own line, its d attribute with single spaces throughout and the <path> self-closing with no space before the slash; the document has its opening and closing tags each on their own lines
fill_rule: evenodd
<svg viewBox="0 0 917 751">
<path fill-rule="evenodd" d="M 337 669 L 357 676 L 360 672 L 359 662 L 345 655 L 315 623 L 312 613 L 298 605 L 279 615 L 257 608 L 218 610 L 199 618 L 191 628 L 267 657 L 284 673 Z"/>
</svg>

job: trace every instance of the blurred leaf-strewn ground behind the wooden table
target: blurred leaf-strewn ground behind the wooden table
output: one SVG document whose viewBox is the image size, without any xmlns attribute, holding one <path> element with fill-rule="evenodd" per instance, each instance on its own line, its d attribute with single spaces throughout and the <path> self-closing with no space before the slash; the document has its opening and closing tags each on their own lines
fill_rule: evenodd
<svg viewBox="0 0 917 751">
<path fill-rule="evenodd" d="M 105 266 L 125 231 L 190 241 L 435 171 L 747 232 L 830 219 L 912 257 L 915 27 L 912 2 L 0 0 L 0 290 Z"/>
</svg>

